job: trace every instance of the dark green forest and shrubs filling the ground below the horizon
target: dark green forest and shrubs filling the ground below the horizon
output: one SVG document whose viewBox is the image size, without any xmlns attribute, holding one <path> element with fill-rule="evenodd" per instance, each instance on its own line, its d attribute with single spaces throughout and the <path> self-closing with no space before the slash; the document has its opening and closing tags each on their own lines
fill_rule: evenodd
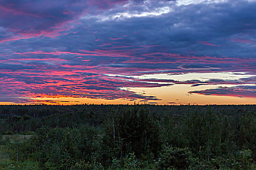
<svg viewBox="0 0 256 170">
<path fill-rule="evenodd" d="M 2 170 L 254 170 L 256 105 L 2 105 Z"/>
</svg>

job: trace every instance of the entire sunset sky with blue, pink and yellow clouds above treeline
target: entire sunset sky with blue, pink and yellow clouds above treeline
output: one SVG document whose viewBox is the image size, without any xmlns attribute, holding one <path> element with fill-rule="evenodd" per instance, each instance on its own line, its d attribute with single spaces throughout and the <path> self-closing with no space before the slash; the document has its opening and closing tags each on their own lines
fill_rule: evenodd
<svg viewBox="0 0 256 170">
<path fill-rule="evenodd" d="M 0 0 L 0 104 L 256 104 L 256 0 Z"/>
</svg>

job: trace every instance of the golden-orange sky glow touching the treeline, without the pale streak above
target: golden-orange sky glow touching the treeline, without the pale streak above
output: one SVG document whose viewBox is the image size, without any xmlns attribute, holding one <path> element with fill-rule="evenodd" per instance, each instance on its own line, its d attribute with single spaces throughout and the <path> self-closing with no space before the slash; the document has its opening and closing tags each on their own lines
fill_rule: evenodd
<svg viewBox="0 0 256 170">
<path fill-rule="evenodd" d="M 200 86 L 191 86 L 191 85 L 169 85 L 162 87 L 134 87 L 134 88 L 122 88 L 136 94 L 143 94 L 146 96 L 155 96 L 161 100 L 151 100 L 147 103 L 155 104 L 198 104 L 198 105 L 206 105 L 206 104 L 256 104 L 256 98 L 253 97 L 233 97 L 233 96 L 213 96 L 213 95 L 200 95 L 200 94 L 190 94 L 189 91 L 193 90 L 203 90 L 209 88 L 216 88 L 219 85 L 200 85 Z M 234 85 L 225 85 L 232 87 Z M 32 98 L 31 98 L 32 99 Z M 85 103 L 94 103 L 94 104 L 133 104 L 134 101 L 128 101 L 124 99 L 115 99 L 115 100 L 105 100 L 105 99 L 90 99 L 90 98 L 33 98 L 33 100 L 42 100 L 42 101 L 66 101 L 66 102 L 43 102 L 45 104 L 85 104 Z M 73 101 L 73 102 L 72 102 Z M 75 101 L 75 102 L 74 102 Z M 136 103 L 144 103 L 140 102 L 141 100 L 135 100 Z M 171 103 L 170 103 L 171 102 Z M 40 103 L 40 102 L 39 102 Z M 0 102 L 0 104 L 18 104 L 12 102 Z M 23 103 L 30 104 L 30 103 Z M 31 103 L 34 104 L 34 103 Z"/>
</svg>

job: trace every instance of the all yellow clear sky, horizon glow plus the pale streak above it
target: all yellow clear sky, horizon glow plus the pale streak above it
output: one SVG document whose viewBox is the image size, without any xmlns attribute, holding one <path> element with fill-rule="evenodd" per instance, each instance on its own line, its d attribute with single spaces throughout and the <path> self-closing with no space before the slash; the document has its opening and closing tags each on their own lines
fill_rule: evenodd
<svg viewBox="0 0 256 170">
<path fill-rule="evenodd" d="M 115 75 L 109 75 L 115 76 Z M 120 75 L 119 75 L 120 76 Z M 221 80 L 242 80 L 243 78 L 255 77 L 255 75 L 245 74 L 244 72 L 219 72 L 219 73 L 187 73 L 187 74 L 145 74 L 142 76 L 130 76 L 135 78 L 137 81 L 147 79 L 158 79 L 163 80 L 159 82 L 160 84 L 170 84 L 164 82 L 164 80 L 174 80 L 179 82 L 186 82 L 191 80 L 199 80 L 201 82 L 208 82 L 208 80 L 221 79 Z M 152 82 L 153 83 L 153 82 Z M 255 84 L 242 84 L 242 85 L 254 85 Z M 127 90 L 134 92 L 135 94 L 141 96 L 154 96 L 156 99 L 160 100 L 148 100 L 147 103 L 152 104 L 256 104 L 256 97 L 237 97 L 229 96 L 228 94 L 222 96 L 216 95 L 202 95 L 197 93 L 188 93 L 190 91 L 201 91 L 206 89 L 217 89 L 219 86 L 225 87 L 235 87 L 237 85 L 230 84 L 218 84 L 218 85 L 198 85 L 192 86 L 190 84 L 173 84 L 160 87 L 120 87 L 122 90 Z M 254 92 L 252 92 L 254 93 Z M 70 105 L 70 104 L 84 104 L 84 103 L 94 103 L 94 104 L 133 104 L 144 103 L 143 99 L 91 99 L 91 98 L 75 98 L 75 97 L 24 97 L 32 102 L 0 102 L 0 104 L 57 104 L 57 105 Z M 141 102 L 140 102 L 141 101 Z"/>
</svg>

